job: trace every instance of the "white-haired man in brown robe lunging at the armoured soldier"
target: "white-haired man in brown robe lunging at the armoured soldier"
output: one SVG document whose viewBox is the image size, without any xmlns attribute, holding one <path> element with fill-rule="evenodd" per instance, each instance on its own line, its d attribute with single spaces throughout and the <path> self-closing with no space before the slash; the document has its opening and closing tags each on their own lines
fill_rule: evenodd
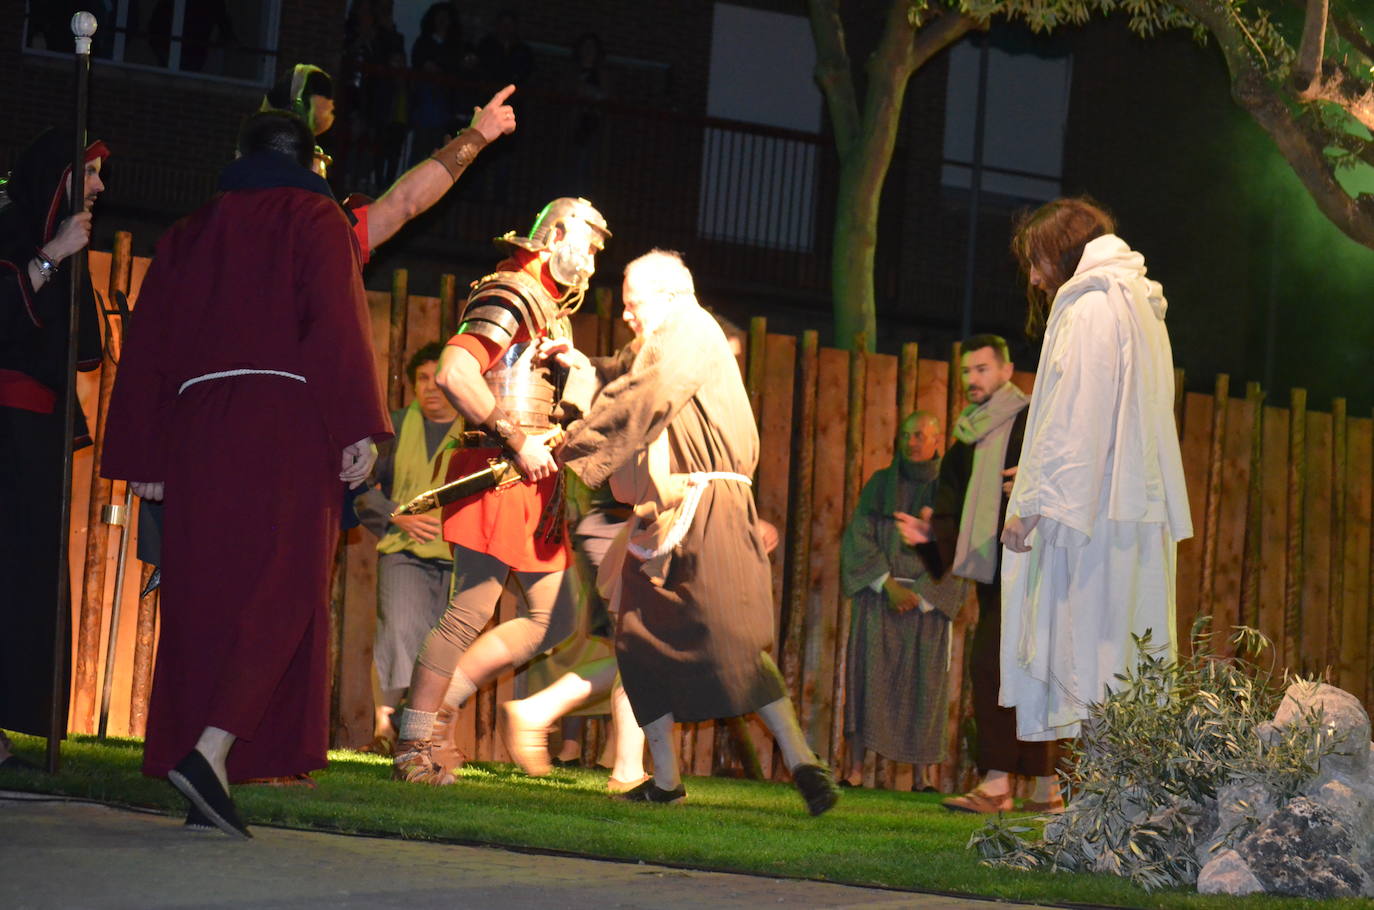
<svg viewBox="0 0 1374 910">
<path fill-rule="evenodd" d="M 673 723 L 758 712 L 807 810 L 820 815 L 838 790 L 768 656 L 772 573 L 749 489 L 758 430 L 743 379 L 677 253 L 633 260 L 622 290 L 636 341 L 614 357 L 594 363 L 566 338 L 540 344 L 570 370 L 563 412 L 573 419 L 559 459 L 633 506 L 602 576 L 618 587 L 616 661 L 654 775 L 618 799 L 687 799 Z"/>
</svg>

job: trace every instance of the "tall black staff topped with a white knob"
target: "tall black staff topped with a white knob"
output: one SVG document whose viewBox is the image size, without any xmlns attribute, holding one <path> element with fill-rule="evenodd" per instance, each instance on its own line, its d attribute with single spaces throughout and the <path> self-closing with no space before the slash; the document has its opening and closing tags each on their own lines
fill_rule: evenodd
<svg viewBox="0 0 1374 910">
<path fill-rule="evenodd" d="M 95 15 L 77 12 L 71 16 L 71 34 L 76 37 L 77 65 L 77 137 L 71 154 L 71 210 L 85 208 L 85 121 L 87 82 L 91 76 L 91 36 L 95 34 Z M 52 639 L 52 713 L 48 718 L 48 773 L 56 774 L 62 764 L 62 737 L 67 730 L 67 719 L 62 697 L 67 680 L 67 652 L 71 649 L 71 569 L 67 566 L 67 537 L 71 526 L 71 434 L 77 419 L 77 301 L 81 300 L 81 285 L 87 278 L 85 253 L 71 257 L 71 300 L 67 305 L 67 371 L 66 400 L 62 406 L 62 521 L 58 525 L 58 634 Z M 67 632 L 67 634 L 63 634 Z"/>
</svg>

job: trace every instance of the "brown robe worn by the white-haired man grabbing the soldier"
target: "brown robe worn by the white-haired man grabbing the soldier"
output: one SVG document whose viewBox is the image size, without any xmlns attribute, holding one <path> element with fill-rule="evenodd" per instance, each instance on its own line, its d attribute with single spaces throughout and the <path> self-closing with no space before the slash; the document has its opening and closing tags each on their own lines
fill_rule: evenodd
<svg viewBox="0 0 1374 910">
<path fill-rule="evenodd" d="M 662 433 L 675 477 L 753 476 L 758 432 L 749 396 L 724 333 L 701 307 L 679 304 L 638 355 L 622 352 L 598 368 L 606 385 L 569 428 L 562 452 L 588 485 L 643 458 Z M 673 518 L 673 503 L 661 504 L 666 511 L 636 503 L 651 531 Z M 684 722 L 736 716 L 786 694 L 767 654 L 772 579 L 757 522 L 747 485 L 712 481 L 682 543 L 650 566 L 655 577 L 625 557 L 616 657 L 642 724 L 665 713 Z"/>
</svg>

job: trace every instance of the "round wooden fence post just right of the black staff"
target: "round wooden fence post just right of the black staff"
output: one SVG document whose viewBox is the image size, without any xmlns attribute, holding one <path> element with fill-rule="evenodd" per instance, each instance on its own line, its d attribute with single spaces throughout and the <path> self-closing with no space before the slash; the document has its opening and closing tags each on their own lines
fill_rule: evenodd
<svg viewBox="0 0 1374 910">
<path fill-rule="evenodd" d="M 114 252 L 110 256 L 110 278 L 106 283 L 106 297 L 114 298 L 115 291 L 128 294 L 129 276 L 133 269 L 131 254 L 132 238 L 128 231 L 114 235 Z M 81 256 L 85 256 L 82 250 Z M 107 322 L 114 326 L 117 320 Z M 115 362 L 120 338 L 115 331 L 106 333 L 100 362 L 100 389 L 95 404 L 95 454 L 91 459 L 91 493 L 87 503 L 87 546 L 85 569 L 81 573 L 81 613 L 77 630 L 77 667 L 73 685 L 74 727 L 81 733 L 95 731 L 96 667 L 100 663 L 100 620 L 104 614 L 104 568 L 106 550 L 110 544 L 110 525 L 104 524 L 102 511 L 110 504 L 114 481 L 100 477 L 100 450 L 104 440 L 106 411 L 110 392 L 114 390 Z"/>
</svg>

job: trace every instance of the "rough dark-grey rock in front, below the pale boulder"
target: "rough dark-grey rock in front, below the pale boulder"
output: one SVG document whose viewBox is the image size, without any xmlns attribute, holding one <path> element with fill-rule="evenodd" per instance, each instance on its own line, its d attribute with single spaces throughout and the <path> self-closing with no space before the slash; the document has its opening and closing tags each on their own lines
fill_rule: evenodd
<svg viewBox="0 0 1374 910">
<path fill-rule="evenodd" d="M 1352 859 L 1349 828 L 1305 796 L 1289 800 L 1237 845 L 1237 852 L 1271 894 L 1296 898 L 1356 898 L 1369 877 Z"/>
</svg>

